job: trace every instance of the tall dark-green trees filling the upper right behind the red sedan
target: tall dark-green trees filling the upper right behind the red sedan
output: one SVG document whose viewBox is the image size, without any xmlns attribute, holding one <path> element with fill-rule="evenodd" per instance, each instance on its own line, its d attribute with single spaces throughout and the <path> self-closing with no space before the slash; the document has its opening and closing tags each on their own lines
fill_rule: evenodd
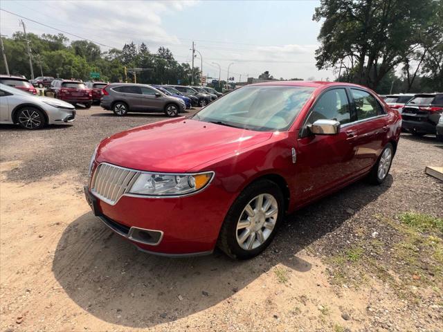
<svg viewBox="0 0 443 332">
<path fill-rule="evenodd" d="M 321 0 L 318 69 L 379 93 L 443 91 L 443 0 Z"/>
</svg>

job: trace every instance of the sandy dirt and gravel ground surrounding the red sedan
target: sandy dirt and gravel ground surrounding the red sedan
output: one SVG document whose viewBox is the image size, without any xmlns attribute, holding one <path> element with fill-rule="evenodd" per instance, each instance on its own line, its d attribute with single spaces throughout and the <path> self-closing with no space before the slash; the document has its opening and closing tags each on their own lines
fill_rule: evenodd
<svg viewBox="0 0 443 332">
<path fill-rule="evenodd" d="M 443 330 L 435 138 L 402 135 L 383 185 L 288 216 L 260 257 L 167 259 L 105 228 L 82 193 L 102 138 L 162 119 L 93 107 L 71 127 L 0 127 L 1 331 Z"/>
</svg>

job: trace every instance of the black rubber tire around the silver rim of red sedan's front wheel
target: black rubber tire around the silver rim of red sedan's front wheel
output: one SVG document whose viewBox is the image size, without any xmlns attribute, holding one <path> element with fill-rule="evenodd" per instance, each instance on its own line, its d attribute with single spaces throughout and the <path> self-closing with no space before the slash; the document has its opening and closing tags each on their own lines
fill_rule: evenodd
<svg viewBox="0 0 443 332">
<path fill-rule="evenodd" d="M 278 203 L 278 218 L 275 223 L 273 232 L 261 246 L 253 250 L 244 250 L 237 243 L 237 222 L 246 204 L 248 204 L 258 194 L 271 194 L 272 196 L 274 196 Z M 280 187 L 278 187 L 276 183 L 273 183 L 269 180 L 260 180 L 252 183 L 251 185 L 246 187 L 241 194 L 239 194 L 233 205 L 230 207 L 228 214 L 226 214 L 224 220 L 224 231 L 226 232 L 226 245 L 229 250 L 229 252 L 226 253 L 228 253 L 230 257 L 235 257 L 237 259 L 249 259 L 259 255 L 260 252 L 265 250 L 272 242 L 278 230 L 278 226 L 283 219 L 283 216 L 284 199 Z"/>
</svg>

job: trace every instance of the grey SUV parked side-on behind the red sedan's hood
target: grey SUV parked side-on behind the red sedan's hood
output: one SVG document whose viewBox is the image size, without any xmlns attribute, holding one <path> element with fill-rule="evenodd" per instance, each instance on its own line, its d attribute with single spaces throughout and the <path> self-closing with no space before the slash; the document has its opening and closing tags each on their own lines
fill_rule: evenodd
<svg viewBox="0 0 443 332">
<path fill-rule="evenodd" d="M 175 98 L 146 84 L 112 83 L 103 89 L 100 106 L 114 111 L 116 116 L 127 112 L 164 112 L 178 116 L 186 110 L 183 100 Z"/>
</svg>

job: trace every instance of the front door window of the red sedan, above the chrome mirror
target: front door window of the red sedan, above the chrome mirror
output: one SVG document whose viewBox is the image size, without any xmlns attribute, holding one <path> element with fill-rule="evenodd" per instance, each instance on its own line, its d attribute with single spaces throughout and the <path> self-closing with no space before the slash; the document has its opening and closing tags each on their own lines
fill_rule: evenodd
<svg viewBox="0 0 443 332">
<path fill-rule="evenodd" d="M 334 89 L 323 93 L 309 115 L 307 124 L 316 120 L 337 120 L 341 124 L 351 121 L 349 101 L 345 89 Z"/>
</svg>

